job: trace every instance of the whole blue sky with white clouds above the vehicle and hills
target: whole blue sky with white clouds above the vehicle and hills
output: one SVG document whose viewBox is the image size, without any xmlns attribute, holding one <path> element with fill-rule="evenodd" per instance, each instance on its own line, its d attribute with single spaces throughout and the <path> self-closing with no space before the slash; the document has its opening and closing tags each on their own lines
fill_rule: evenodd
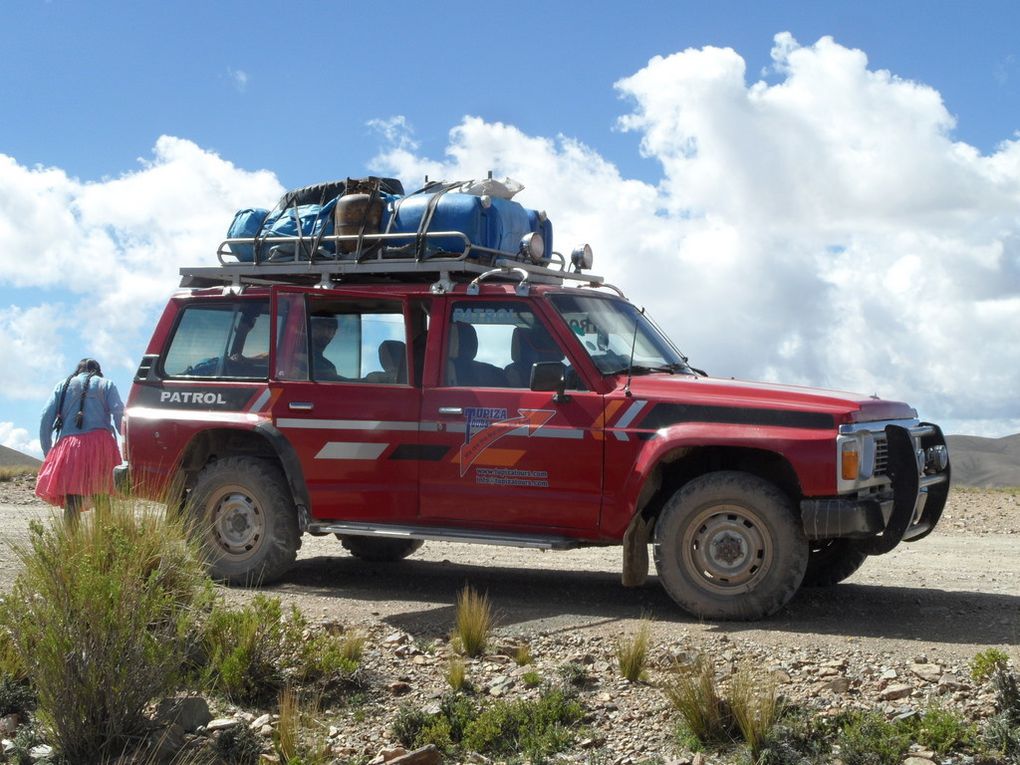
<svg viewBox="0 0 1020 765">
<path fill-rule="evenodd" d="M 82 355 L 126 397 L 233 209 L 489 169 L 713 372 L 1020 430 L 1016 3 L 6 8 L 7 446 Z"/>
</svg>

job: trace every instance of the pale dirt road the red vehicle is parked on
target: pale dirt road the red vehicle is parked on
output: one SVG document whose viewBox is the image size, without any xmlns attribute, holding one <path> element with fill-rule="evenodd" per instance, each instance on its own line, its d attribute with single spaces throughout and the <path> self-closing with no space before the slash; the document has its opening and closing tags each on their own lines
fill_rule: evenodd
<svg viewBox="0 0 1020 765">
<path fill-rule="evenodd" d="M 28 487 L 0 489 L 0 538 L 26 538 L 33 517 L 52 517 Z M 776 616 L 757 623 L 701 622 L 679 611 L 654 573 L 638 590 L 619 583 L 618 548 L 566 553 L 427 543 L 401 563 L 350 557 L 333 537 L 304 538 L 298 563 L 265 591 L 312 619 L 389 625 L 429 641 L 449 634 L 456 593 L 488 591 L 506 636 L 617 634 L 643 613 L 657 631 L 728 634 L 763 646 L 847 649 L 913 659 L 966 660 L 988 646 L 1020 644 L 1020 498 L 1003 492 L 954 493 L 935 533 L 869 560 L 849 580 L 803 590 Z M 16 573 L 0 545 L 0 582 Z M 247 591 L 225 591 L 231 600 Z M 849 644 L 849 645 L 848 645 Z"/>
</svg>

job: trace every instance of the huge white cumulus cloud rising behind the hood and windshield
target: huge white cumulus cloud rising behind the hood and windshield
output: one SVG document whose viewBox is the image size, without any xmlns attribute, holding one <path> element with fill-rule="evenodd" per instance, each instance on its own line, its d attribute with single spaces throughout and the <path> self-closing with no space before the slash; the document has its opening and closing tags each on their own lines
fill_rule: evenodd
<svg viewBox="0 0 1020 765">
<path fill-rule="evenodd" d="M 616 84 L 654 186 L 566 136 L 476 117 L 441 159 L 398 134 L 376 163 L 524 181 L 557 249 L 591 241 L 597 270 L 714 373 L 906 399 L 953 431 L 1017 429 L 1020 141 L 982 155 L 954 140 L 937 91 L 831 38 L 777 35 L 772 59 L 774 85 L 713 47 Z"/>
</svg>

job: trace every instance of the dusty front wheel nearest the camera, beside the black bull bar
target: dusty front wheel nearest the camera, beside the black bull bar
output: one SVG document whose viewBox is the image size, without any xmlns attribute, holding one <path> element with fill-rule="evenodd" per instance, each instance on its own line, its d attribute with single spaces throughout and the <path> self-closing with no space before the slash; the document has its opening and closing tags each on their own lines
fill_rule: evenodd
<svg viewBox="0 0 1020 765">
<path fill-rule="evenodd" d="M 655 567 L 669 596 L 708 619 L 760 619 L 797 593 L 808 541 L 790 499 L 750 473 L 720 471 L 674 494 L 655 526 Z"/>
</svg>

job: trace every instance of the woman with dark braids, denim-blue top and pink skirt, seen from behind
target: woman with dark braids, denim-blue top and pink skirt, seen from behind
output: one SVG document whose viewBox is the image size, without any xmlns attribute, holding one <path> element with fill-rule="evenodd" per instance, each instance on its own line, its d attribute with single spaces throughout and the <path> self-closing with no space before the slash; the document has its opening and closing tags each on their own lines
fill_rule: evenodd
<svg viewBox="0 0 1020 765">
<path fill-rule="evenodd" d="M 39 425 L 46 459 L 36 496 L 63 507 L 68 522 L 76 520 L 86 499 L 113 494 L 113 468 L 120 464 L 115 434 L 123 410 L 120 394 L 95 359 L 82 359 L 53 389 Z"/>
</svg>

